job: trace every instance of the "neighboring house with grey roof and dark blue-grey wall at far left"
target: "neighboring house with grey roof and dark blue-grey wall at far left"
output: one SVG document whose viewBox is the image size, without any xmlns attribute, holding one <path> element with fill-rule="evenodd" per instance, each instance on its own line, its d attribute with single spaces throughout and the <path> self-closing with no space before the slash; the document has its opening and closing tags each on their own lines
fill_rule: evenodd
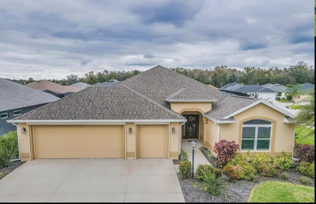
<svg viewBox="0 0 316 204">
<path fill-rule="evenodd" d="M 0 136 L 16 130 L 7 120 L 59 99 L 3 78 L 0 78 L 0 96 Z"/>
</svg>

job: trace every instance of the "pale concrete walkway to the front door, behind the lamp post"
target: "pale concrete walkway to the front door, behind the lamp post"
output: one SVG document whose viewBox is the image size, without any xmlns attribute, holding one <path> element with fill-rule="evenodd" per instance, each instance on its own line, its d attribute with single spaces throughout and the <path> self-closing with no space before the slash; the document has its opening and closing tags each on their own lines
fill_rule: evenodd
<svg viewBox="0 0 316 204">
<path fill-rule="evenodd" d="M 199 140 L 195 140 L 197 141 L 197 148 L 194 150 L 194 172 L 196 172 L 197 170 L 197 166 L 199 164 L 208 164 L 210 165 L 210 163 L 208 162 L 208 160 L 205 158 L 205 156 L 203 155 L 203 153 L 199 150 L 200 146 L 203 146 L 202 142 Z M 191 149 L 191 141 L 187 141 L 186 139 L 182 139 L 181 140 L 181 147 L 184 151 L 186 151 L 188 153 L 188 160 L 191 161 L 192 163 L 192 149 Z M 176 169 L 176 172 L 179 173 L 179 165 L 174 165 L 174 168 Z"/>
</svg>

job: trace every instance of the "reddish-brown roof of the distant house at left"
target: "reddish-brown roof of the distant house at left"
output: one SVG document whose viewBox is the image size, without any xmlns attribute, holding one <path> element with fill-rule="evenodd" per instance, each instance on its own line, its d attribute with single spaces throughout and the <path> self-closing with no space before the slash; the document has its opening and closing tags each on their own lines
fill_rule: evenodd
<svg viewBox="0 0 316 204">
<path fill-rule="evenodd" d="M 66 93 L 66 92 L 78 92 L 80 89 L 76 86 L 63 86 L 47 80 L 38 80 L 25 86 L 32 87 L 34 89 L 45 91 L 50 90 L 54 92 Z"/>
</svg>

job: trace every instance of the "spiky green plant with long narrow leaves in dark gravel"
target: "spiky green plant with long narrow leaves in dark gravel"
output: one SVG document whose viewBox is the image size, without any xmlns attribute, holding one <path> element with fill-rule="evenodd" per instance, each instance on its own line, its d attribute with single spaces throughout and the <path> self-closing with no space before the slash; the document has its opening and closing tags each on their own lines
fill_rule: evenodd
<svg viewBox="0 0 316 204">
<path fill-rule="evenodd" d="M 215 173 L 210 170 L 201 170 L 202 174 L 198 176 L 198 179 L 203 181 L 203 184 L 198 186 L 205 192 L 211 194 L 212 196 L 219 195 L 227 189 L 227 183 L 222 176 L 216 176 Z"/>
</svg>

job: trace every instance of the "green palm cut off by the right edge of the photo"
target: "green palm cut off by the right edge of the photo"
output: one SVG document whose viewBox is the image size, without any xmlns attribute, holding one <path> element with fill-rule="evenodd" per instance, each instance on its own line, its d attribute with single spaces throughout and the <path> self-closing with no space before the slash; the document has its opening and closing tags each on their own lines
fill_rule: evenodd
<svg viewBox="0 0 316 204">
<path fill-rule="evenodd" d="M 315 136 L 315 89 L 311 89 L 308 94 L 309 98 L 303 99 L 302 101 L 307 102 L 301 106 L 301 110 L 292 119 L 291 123 L 296 126 L 309 127 L 311 132 L 305 134 L 306 137 Z"/>
</svg>

